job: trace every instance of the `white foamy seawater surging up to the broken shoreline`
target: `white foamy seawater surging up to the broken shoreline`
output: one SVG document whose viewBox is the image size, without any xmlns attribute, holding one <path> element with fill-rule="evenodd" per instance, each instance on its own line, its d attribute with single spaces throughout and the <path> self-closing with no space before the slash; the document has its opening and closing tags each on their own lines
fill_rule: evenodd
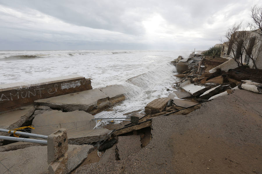
<svg viewBox="0 0 262 174">
<path fill-rule="evenodd" d="M 114 106 L 115 109 L 144 106 L 172 92 L 167 88 L 172 89 L 177 81 L 176 69 L 168 62 L 189 54 L 119 50 L 0 51 L 0 84 L 78 74 L 93 79 L 93 88 L 113 84 L 129 87 L 127 100 Z M 127 81 L 131 77 L 134 78 Z"/>
</svg>

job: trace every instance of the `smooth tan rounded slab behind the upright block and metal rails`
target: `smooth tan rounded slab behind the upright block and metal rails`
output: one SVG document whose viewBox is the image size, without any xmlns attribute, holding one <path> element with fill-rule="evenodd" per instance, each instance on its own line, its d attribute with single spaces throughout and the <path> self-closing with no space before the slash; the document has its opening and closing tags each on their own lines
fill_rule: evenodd
<svg viewBox="0 0 262 174">
<path fill-rule="evenodd" d="M 72 112 L 62 112 L 61 110 L 46 110 L 42 114 L 35 116 L 32 122 L 32 133 L 50 135 L 59 128 L 65 128 L 69 132 L 72 130 L 85 131 L 95 127 L 93 115 L 85 111 L 75 110 Z M 68 133 L 70 134 L 70 133 Z"/>
</svg>

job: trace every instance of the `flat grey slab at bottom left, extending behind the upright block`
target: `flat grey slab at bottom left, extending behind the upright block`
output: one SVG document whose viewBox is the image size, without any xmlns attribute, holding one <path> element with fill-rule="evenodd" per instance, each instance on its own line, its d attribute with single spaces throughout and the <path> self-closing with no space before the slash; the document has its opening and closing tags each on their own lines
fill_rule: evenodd
<svg viewBox="0 0 262 174">
<path fill-rule="evenodd" d="M 87 156 L 91 145 L 68 145 L 68 171 L 78 166 Z M 48 174 L 47 146 L 33 146 L 15 151 L 0 152 L 1 163 L 12 173 Z M 6 158 L 6 159 L 5 159 Z M 7 169 L 0 165 L 0 171 Z M 8 172 L 6 172 L 8 173 Z"/>
</svg>

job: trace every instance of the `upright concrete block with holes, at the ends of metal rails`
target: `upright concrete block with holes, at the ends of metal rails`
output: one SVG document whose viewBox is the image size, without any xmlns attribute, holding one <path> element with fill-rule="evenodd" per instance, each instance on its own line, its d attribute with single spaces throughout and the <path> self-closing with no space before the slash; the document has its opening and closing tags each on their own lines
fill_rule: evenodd
<svg viewBox="0 0 262 174">
<path fill-rule="evenodd" d="M 55 133 L 49 135 L 47 143 L 47 162 L 50 164 L 60 158 L 68 150 L 66 129 L 61 128 Z"/>
</svg>

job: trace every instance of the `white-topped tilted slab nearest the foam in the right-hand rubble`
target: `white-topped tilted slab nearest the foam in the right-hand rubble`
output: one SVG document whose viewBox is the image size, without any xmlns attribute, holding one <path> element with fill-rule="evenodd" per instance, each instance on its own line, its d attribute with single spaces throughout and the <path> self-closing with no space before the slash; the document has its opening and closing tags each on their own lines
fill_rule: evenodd
<svg viewBox="0 0 262 174">
<path fill-rule="evenodd" d="M 180 87 L 188 93 L 192 94 L 193 96 L 197 96 L 208 90 L 206 86 L 192 84 L 189 80 L 180 84 Z"/>
</svg>

